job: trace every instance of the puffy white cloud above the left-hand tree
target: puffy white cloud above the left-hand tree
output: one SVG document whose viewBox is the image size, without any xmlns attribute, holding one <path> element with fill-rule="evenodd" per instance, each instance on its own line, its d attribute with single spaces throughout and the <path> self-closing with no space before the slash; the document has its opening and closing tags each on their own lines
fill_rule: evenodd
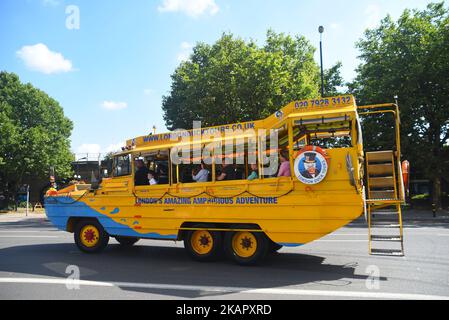
<svg viewBox="0 0 449 320">
<path fill-rule="evenodd" d="M 73 71 L 72 62 L 59 52 L 48 49 L 43 43 L 32 46 L 23 46 L 16 52 L 25 65 L 34 71 L 45 74 Z"/>
</svg>

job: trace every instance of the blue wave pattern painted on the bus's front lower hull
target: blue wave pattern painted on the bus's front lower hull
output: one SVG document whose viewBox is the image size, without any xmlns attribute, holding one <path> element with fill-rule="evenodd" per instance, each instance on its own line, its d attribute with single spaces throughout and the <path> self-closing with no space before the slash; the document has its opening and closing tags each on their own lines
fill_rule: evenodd
<svg viewBox="0 0 449 320">
<path fill-rule="evenodd" d="M 83 202 L 74 202 L 70 197 L 47 198 L 45 207 L 47 217 L 60 230 L 67 231 L 67 222 L 71 217 L 97 218 L 103 228 L 112 236 L 128 236 L 148 239 L 176 240 L 175 234 L 161 235 L 156 232 L 138 233 L 129 226 L 115 222 L 112 218 L 96 211 Z M 115 210 L 114 210 L 115 211 Z"/>
</svg>

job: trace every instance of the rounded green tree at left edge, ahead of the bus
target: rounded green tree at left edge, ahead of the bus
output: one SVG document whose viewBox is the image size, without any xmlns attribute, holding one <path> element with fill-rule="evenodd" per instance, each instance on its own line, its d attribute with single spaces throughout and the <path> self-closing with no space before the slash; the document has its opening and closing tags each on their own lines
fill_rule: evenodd
<svg viewBox="0 0 449 320">
<path fill-rule="evenodd" d="M 13 73 L 0 72 L 0 181 L 15 193 L 24 178 L 71 175 L 72 122 L 59 103 Z"/>
</svg>

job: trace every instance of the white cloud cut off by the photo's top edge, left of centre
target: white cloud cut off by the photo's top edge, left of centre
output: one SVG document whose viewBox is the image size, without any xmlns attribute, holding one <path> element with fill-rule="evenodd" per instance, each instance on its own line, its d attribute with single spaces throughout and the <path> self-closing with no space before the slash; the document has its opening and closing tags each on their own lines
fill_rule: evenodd
<svg viewBox="0 0 449 320">
<path fill-rule="evenodd" d="M 196 18 L 205 13 L 213 16 L 220 8 L 215 3 L 215 0 L 163 0 L 158 10 L 160 12 L 181 11 Z"/>
</svg>

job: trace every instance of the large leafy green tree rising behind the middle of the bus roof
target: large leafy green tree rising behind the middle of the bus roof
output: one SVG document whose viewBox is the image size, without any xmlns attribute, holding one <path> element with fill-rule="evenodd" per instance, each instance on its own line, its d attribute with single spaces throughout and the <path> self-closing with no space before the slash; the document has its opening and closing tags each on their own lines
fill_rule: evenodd
<svg viewBox="0 0 449 320">
<path fill-rule="evenodd" d="M 264 46 L 232 34 L 213 45 L 198 43 L 171 76 L 163 97 L 170 130 L 190 129 L 194 120 L 213 126 L 264 118 L 287 103 L 319 95 L 315 48 L 302 36 L 269 30 Z M 341 85 L 337 65 L 327 71 L 330 89 Z"/>
</svg>

